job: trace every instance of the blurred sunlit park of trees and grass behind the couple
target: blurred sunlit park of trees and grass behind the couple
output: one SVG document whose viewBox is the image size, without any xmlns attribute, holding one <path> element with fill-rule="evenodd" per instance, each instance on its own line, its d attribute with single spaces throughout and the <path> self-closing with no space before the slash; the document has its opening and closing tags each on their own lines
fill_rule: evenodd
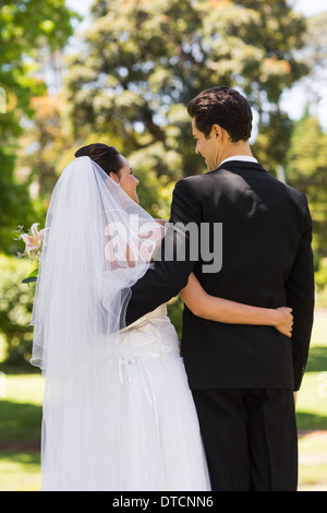
<svg viewBox="0 0 327 513">
<path fill-rule="evenodd" d="M 19 227 L 45 224 L 81 145 L 114 145 L 142 205 L 204 172 L 187 102 L 229 85 L 254 112 L 253 154 L 303 191 L 314 224 L 316 314 L 298 398 L 300 490 L 327 490 L 327 4 L 325 0 L 11 0 L 0 7 L 0 490 L 38 490 L 43 378 L 34 284 Z M 181 301 L 169 314 L 181 330 Z"/>
</svg>

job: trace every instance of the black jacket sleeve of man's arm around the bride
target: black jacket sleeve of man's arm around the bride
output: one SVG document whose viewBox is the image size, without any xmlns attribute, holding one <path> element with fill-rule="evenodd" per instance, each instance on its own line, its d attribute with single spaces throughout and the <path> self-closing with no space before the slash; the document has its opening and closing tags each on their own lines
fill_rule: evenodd
<svg viewBox="0 0 327 513">
<path fill-rule="evenodd" d="M 190 232 L 184 229 L 191 222 L 199 226 L 201 204 L 194 199 L 187 179 L 182 179 L 173 190 L 170 226 L 158 252 L 159 258 L 131 289 L 125 325 L 169 301 L 186 286 L 196 263 L 191 260 Z M 180 251 L 183 247 L 184 254 Z"/>
</svg>

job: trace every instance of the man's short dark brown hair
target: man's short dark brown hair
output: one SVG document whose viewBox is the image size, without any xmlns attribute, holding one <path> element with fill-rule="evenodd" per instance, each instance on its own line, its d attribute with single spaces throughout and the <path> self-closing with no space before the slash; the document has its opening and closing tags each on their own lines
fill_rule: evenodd
<svg viewBox="0 0 327 513">
<path fill-rule="evenodd" d="M 203 91 L 187 105 L 195 127 L 208 138 L 214 124 L 219 124 L 232 142 L 247 141 L 252 130 L 252 111 L 247 99 L 230 87 Z"/>
</svg>

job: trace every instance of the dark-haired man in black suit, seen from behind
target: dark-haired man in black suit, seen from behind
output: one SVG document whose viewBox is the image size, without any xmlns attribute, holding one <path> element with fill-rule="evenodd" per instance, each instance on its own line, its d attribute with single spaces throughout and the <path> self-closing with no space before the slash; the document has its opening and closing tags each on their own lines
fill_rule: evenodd
<svg viewBox="0 0 327 513">
<path fill-rule="evenodd" d="M 189 114 L 195 151 L 209 172 L 177 183 L 170 223 L 196 224 L 199 235 L 205 224 L 222 223 L 222 266 L 205 271 L 203 255 L 194 259 L 190 251 L 183 261 L 165 260 L 166 237 L 161 260 L 132 287 L 126 323 L 175 296 L 192 271 L 210 295 L 258 307 L 291 307 L 291 339 L 269 326 L 206 321 L 185 307 L 182 355 L 213 490 L 294 491 L 293 391 L 304 373 L 314 308 L 307 202 L 252 156 L 252 112 L 237 91 L 204 91 L 190 102 Z M 184 235 L 192 239 L 192 232 Z M 175 244 L 179 237 L 177 230 Z M 213 241 L 206 242 L 213 249 Z"/>
</svg>

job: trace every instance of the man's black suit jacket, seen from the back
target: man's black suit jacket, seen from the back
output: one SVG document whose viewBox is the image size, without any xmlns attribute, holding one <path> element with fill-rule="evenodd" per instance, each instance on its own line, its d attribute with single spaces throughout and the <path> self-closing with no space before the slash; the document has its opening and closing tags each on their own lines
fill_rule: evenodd
<svg viewBox="0 0 327 513">
<path fill-rule="evenodd" d="M 223 324 L 183 312 L 182 356 L 191 389 L 299 390 L 313 323 L 312 222 L 303 193 L 259 164 L 228 162 L 215 171 L 180 180 L 170 223 L 222 223 L 222 267 L 203 272 L 197 261 L 161 260 L 132 288 L 126 323 L 168 301 L 194 271 L 216 297 L 247 305 L 293 308 L 292 339 L 270 326 Z M 177 238 L 179 235 L 177 236 Z M 192 237 L 192 236 L 191 236 Z M 165 253 L 166 239 L 162 242 Z"/>
</svg>

